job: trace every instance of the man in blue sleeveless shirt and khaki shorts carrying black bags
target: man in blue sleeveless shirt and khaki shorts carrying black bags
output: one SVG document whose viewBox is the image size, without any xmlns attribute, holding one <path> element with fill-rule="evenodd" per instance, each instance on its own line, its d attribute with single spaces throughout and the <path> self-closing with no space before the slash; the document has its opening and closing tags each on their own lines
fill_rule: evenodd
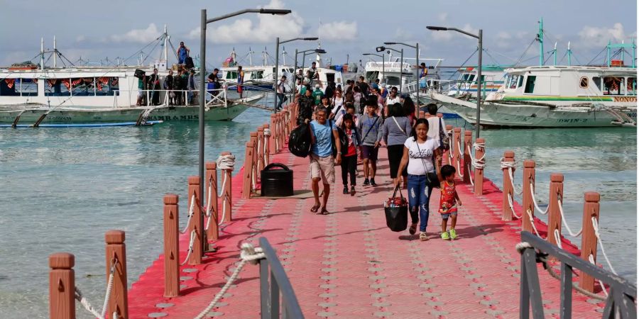
<svg viewBox="0 0 639 319">
<path fill-rule="evenodd" d="M 310 123 L 311 153 L 310 173 L 312 180 L 313 197 L 315 205 L 310 209 L 313 213 L 320 210 L 320 214 L 329 213 L 326 203 L 330 194 L 330 184 L 335 182 L 335 164 L 342 164 L 342 145 L 339 142 L 339 133 L 334 121 L 327 123 L 327 109 L 318 107 L 315 111 L 315 121 Z M 332 146 L 335 143 L 337 156 L 333 158 Z M 320 205 L 320 180 L 324 184 L 324 196 Z"/>
</svg>

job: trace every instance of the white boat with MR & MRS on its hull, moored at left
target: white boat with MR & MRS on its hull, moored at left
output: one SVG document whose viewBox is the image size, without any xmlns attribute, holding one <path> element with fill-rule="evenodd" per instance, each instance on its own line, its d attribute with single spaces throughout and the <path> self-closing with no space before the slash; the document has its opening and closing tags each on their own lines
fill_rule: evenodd
<svg viewBox="0 0 639 319">
<path fill-rule="evenodd" d="M 164 59 L 151 65 L 114 67 L 58 67 L 58 50 L 40 48 L 40 66 L 26 65 L 0 68 L 0 123 L 16 125 L 40 123 L 197 121 L 198 89 L 194 90 L 140 90 L 136 69 L 151 74 L 158 69 L 160 84 L 168 75 L 168 35 L 158 39 L 164 43 Z M 51 52 L 53 67 L 46 67 L 44 55 Z M 139 71 L 138 71 L 139 72 Z M 196 74 L 196 79 L 198 79 Z M 197 80 L 196 80 L 197 86 Z M 163 87 L 163 86 L 162 86 Z M 146 103 L 136 105 L 138 94 Z M 158 105 L 151 105 L 153 95 L 159 96 Z M 181 95 L 181 101 L 192 104 L 170 105 L 170 96 Z M 253 106 L 265 94 L 254 94 L 244 99 L 229 99 L 227 88 L 207 90 L 204 120 L 229 121 Z"/>
</svg>

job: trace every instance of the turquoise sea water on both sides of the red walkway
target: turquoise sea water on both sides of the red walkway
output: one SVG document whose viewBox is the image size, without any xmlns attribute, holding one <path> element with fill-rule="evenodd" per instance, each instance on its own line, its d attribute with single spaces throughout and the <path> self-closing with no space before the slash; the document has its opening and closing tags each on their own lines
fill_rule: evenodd
<svg viewBox="0 0 639 319">
<path fill-rule="evenodd" d="M 231 151 L 243 162 L 249 132 L 267 118 L 265 111 L 251 109 L 233 122 L 207 123 L 207 160 Z M 179 194 L 180 208 L 186 210 L 187 176 L 197 174 L 197 131 L 197 123 L 0 130 L 2 317 L 48 316 L 48 255 L 60 251 L 75 254 L 77 286 L 94 306 L 102 306 L 104 232 L 109 229 L 126 231 L 131 284 L 162 250 L 163 195 Z M 540 201 L 547 201 L 550 173 L 564 173 L 564 207 L 574 229 L 581 225 L 584 191 L 599 191 L 606 252 L 621 275 L 636 281 L 635 130 L 486 130 L 481 135 L 488 140 L 486 175 L 497 184 L 504 150 L 514 150 L 518 163 L 537 160 Z M 90 318 L 83 309 L 78 314 Z"/>
</svg>

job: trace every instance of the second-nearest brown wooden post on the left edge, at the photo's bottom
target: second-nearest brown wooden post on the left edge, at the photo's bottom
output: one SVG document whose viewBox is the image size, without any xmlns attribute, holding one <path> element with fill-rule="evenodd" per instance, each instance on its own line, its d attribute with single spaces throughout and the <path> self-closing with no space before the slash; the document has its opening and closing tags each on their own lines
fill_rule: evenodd
<svg viewBox="0 0 639 319">
<path fill-rule="evenodd" d="M 113 273 L 113 288 L 111 298 L 107 306 L 107 315 L 111 318 L 113 313 L 118 313 L 118 318 L 129 319 L 129 297 L 126 286 L 126 245 L 124 244 L 124 231 L 109 230 L 104 233 L 104 241 L 107 242 L 107 284 L 111 274 L 111 264 L 117 261 Z"/>
</svg>

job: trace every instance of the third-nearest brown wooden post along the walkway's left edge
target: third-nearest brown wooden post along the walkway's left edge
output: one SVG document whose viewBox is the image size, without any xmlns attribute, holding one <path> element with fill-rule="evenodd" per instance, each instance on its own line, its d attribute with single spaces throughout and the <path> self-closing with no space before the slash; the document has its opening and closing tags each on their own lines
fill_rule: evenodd
<svg viewBox="0 0 639 319">
<path fill-rule="evenodd" d="M 180 296 L 180 213 L 178 195 L 164 196 L 164 296 Z"/>
</svg>

